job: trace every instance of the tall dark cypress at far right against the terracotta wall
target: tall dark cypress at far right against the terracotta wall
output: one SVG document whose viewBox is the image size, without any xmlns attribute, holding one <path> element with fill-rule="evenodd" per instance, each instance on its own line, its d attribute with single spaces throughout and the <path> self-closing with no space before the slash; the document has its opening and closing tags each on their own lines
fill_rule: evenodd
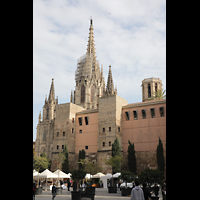
<svg viewBox="0 0 200 200">
<path fill-rule="evenodd" d="M 165 170 L 165 159 L 164 159 L 164 152 L 163 152 L 163 144 L 162 141 L 159 137 L 159 144 L 157 146 L 157 164 L 158 164 L 158 169 L 164 174 Z"/>
</svg>

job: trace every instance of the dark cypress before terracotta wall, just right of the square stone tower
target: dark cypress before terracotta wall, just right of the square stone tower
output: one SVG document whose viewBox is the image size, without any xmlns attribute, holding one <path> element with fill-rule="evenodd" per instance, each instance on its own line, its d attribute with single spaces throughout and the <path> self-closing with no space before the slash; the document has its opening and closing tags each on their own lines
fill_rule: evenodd
<svg viewBox="0 0 200 200">
<path fill-rule="evenodd" d="M 134 143 L 131 144 L 130 141 L 128 141 L 128 167 L 129 171 L 137 174 L 137 166 L 136 166 L 136 156 L 135 156 L 135 149 L 134 149 Z"/>
</svg>

